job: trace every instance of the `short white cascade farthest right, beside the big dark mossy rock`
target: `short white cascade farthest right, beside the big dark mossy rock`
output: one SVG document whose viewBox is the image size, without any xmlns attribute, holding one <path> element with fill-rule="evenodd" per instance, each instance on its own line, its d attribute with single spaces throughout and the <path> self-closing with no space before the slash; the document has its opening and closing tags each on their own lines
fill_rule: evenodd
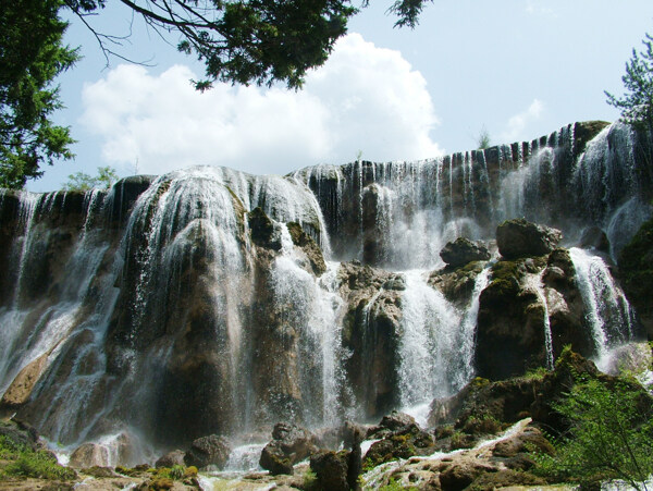
<svg viewBox="0 0 653 491">
<path fill-rule="evenodd" d="M 569 254 L 587 309 L 596 366 L 604 369 L 609 349 L 633 339 L 632 311 L 603 258 L 577 247 L 569 249 Z"/>
</svg>

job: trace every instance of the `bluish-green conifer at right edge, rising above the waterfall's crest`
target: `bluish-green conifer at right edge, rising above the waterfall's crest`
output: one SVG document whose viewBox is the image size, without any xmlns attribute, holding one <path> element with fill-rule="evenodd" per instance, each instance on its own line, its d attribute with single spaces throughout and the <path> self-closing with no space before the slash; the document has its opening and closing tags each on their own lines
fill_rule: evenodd
<svg viewBox="0 0 653 491">
<path fill-rule="evenodd" d="M 638 130 L 653 128 L 653 37 L 642 40 L 644 48 L 639 53 L 632 49 L 632 58 L 626 63 L 626 75 L 621 77 L 626 95 L 617 98 L 609 93 L 607 103 L 621 111 L 623 120 Z"/>
</svg>

